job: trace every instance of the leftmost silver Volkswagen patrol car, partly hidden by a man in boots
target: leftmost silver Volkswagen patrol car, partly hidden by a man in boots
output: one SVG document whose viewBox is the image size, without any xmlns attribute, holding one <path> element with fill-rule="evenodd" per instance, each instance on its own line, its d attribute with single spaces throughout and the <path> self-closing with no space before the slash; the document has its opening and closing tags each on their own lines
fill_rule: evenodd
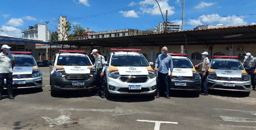
<svg viewBox="0 0 256 130">
<path fill-rule="evenodd" d="M 30 52 L 12 52 L 15 58 L 13 68 L 13 89 L 42 88 L 42 74 Z M 4 79 L 4 84 L 6 80 Z M 4 86 L 6 89 L 6 86 Z"/>
</svg>

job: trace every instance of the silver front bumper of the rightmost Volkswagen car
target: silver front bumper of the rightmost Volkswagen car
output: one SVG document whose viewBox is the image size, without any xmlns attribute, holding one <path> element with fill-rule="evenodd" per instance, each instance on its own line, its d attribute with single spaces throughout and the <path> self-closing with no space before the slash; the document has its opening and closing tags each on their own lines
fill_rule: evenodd
<svg viewBox="0 0 256 130">
<path fill-rule="evenodd" d="M 235 87 L 223 86 L 223 83 L 235 83 Z M 224 80 L 214 80 L 208 79 L 206 81 L 207 88 L 210 90 L 228 90 L 228 91 L 240 91 L 240 92 L 250 92 L 251 91 L 251 81 L 224 81 Z"/>
</svg>

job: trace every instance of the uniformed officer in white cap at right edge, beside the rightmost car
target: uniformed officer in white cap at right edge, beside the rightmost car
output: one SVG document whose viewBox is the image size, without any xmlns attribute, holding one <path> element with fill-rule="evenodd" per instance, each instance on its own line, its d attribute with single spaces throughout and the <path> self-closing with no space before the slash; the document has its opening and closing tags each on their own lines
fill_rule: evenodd
<svg viewBox="0 0 256 130">
<path fill-rule="evenodd" d="M 256 69 L 255 69 L 255 63 L 256 63 L 256 58 L 252 56 L 251 53 L 246 53 L 246 55 L 244 56 L 244 60 L 243 63 L 247 64 L 247 67 L 249 67 L 251 70 L 249 71 L 249 75 L 251 75 L 251 80 L 252 80 L 252 89 L 254 91 L 256 91 Z"/>
</svg>

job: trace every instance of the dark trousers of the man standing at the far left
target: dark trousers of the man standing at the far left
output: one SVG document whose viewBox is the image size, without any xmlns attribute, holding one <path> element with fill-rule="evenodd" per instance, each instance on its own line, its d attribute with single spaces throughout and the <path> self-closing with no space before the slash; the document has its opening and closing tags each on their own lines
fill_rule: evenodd
<svg viewBox="0 0 256 130">
<path fill-rule="evenodd" d="M 8 95 L 13 94 L 13 73 L 1 73 L 0 74 L 0 96 L 4 91 L 4 79 L 6 79 L 6 87 Z"/>
</svg>

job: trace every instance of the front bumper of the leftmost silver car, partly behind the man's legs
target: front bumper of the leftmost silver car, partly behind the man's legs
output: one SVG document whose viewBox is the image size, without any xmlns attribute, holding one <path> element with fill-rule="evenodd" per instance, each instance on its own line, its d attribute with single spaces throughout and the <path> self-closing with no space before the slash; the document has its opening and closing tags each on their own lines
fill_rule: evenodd
<svg viewBox="0 0 256 130">
<path fill-rule="evenodd" d="M 35 78 L 24 78 L 24 79 L 13 78 L 13 81 L 17 81 L 17 80 L 25 80 L 25 84 L 15 84 L 13 85 L 13 89 L 40 88 L 43 86 L 42 76 L 35 77 Z M 6 84 L 6 79 L 4 79 L 4 84 Z M 4 89 L 7 89 L 5 85 L 4 85 Z"/>
</svg>

